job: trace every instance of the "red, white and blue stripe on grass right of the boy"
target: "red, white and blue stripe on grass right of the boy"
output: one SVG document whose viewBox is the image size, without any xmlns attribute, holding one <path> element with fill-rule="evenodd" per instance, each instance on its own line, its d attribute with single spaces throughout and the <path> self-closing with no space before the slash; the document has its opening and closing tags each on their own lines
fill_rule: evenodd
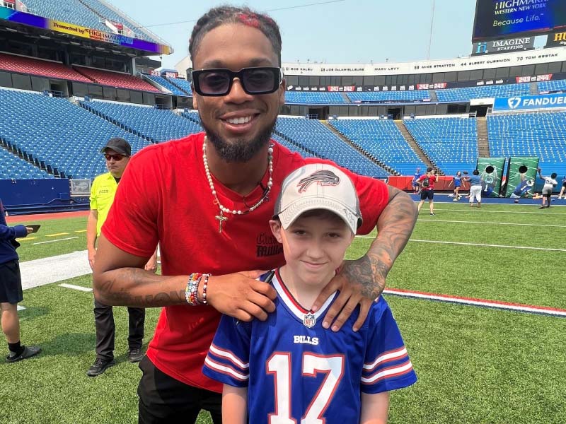
<svg viewBox="0 0 566 424">
<path fill-rule="evenodd" d="M 398 288 L 386 288 L 383 293 L 400 296 L 403 298 L 417 298 L 426 300 L 437 300 L 439 302 L 457 303 L 459 305 L 489 307 L 492 309 L 526 312 L 529 314 L 551 315 L 553 317 L 565 317 L 566 310 L 555 307 L 524 305 L 522 303 L 498 302 L 497 300 L 463 298 L 461 296 L 437 295 L 435 293 L 417 292 L 412 290 L 401 290 Z"/>
</svg>

